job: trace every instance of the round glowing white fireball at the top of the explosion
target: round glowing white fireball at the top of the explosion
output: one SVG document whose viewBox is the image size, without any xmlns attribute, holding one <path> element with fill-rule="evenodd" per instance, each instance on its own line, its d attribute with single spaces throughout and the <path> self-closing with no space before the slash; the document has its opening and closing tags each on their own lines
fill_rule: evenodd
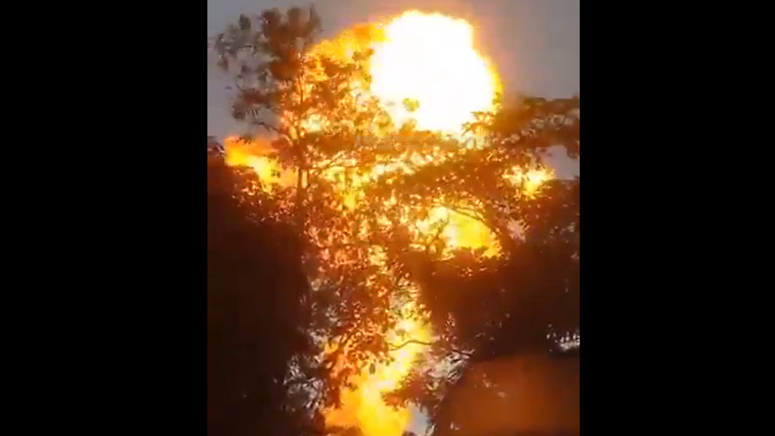
<svg viewBox="0 0 775 436">
<path fill-rule="evenodd" d="M 474 50 L 474 29 L 463 19 L 406 12 L 384 26 L 374 46 L 371 92 L 396 125 L 409 119 L 418 129 L 456 133 L 471 113 L 491 108 L 498 76 Z M 408 112 L 405 99 L 418 102 Z"/>
</svg>

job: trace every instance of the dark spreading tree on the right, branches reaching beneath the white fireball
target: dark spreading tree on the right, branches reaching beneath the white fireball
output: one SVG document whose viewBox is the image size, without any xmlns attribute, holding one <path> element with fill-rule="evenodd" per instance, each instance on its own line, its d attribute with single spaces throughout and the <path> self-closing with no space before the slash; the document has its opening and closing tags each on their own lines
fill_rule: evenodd
<svg viewBox="0 0 775 436">
<path fill-rule="evenodd" d="M 489 147 L 374 185 L 369 195 L 376 202 L 398 197 L 404 207 L 421 209 L 429 199 L 443 198 L 444 207 L 480 221 L 501 245 L 494 257 L 443 247 L 395 256 L 394 263 L 420 283 L 420 301 L 439 340 L 391 400 L 422 404 L 439 429 L 452 424 L 451 393 L 460 386 L 498 392 L 492 382 L 475 381 L 473 369 L 547 355 L 555 345 L 553 331 L 579 326 L 580 179 L 552 180 L 533 193 L 505 182 L 515 168 L 524 173 L 539 166 L 550 146 L 579 155 L 578 99 L 528 98 L 479 118 L 475 127 L 486 132 Z M 439 363 L 449 369 L 440 376 Z M 487 379 L 486 373 L 478 376 Z"/>
</svg>

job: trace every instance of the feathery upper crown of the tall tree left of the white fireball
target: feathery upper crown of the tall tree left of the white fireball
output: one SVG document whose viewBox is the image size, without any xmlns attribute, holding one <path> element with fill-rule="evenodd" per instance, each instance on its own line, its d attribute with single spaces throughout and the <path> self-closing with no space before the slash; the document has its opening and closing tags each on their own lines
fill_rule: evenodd
<svg viewBox="0 0 775 436">
<path fill-rule="evenodd" d="M 359 133 L 389 120 L 374 98 L 360 93 L 370 80 L 363 69 L 370 53 L 343 60 L 315 52 L 319 32 L 312 7 L 306 16 L 299 8 L 285 14 L 270 9 L 252 19 L 240 15 L 239 24 L 215 42 L 221 67 L 238 72 L 234 117 L 274 134 L 275 157 L 296 170 L 302 233 L 308 184 L 320 182 L 322 170 L 349 157 Z"/>
</svg>

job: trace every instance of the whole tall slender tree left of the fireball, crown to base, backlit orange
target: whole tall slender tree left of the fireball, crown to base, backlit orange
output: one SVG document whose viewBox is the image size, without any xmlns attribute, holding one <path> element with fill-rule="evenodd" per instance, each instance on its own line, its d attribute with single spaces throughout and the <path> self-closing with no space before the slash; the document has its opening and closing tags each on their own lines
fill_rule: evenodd
<svg viewBox="0 0 775 436">
<path fill-rule="evenodd" d="M 384 331 L 398 321 L 388 310 L 396 279 L 370 261 L 377 244 L 359 237 L 370 214 L 348 207 L 346 197 L 347 187 L 377 162 L 377 147 L 359 138 L 391 129 L 391 120 L 363 92 L 370 53 L 343 59 L 316 49 L 319 29 L 312 8 L 307 14 L 273 9 L 240 16 L 215 42 L 222 67 L 235 73 L 233 115 L 270 132 L 272 157 L 297 174 L 296 186 L 273 198 L 278 210 L 294 211 L 305 272 L 315 287 L 308 335 L 321 349 L 331 348 L 326 359 L 305 368 L 311 378 L 329 382 L 314 405 L 336 403 L 344 380 L 369 356 L 384 356 Z"/>
</svg>

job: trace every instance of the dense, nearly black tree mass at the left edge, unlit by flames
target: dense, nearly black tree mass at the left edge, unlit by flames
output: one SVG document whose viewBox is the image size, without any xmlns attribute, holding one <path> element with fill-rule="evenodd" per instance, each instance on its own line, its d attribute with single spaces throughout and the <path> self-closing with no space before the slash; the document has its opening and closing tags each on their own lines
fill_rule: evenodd
<svg viewBox="0 0 775 436">
<path fill-rule="evenodd" d="M 292 228 L 244 169 L 208 160 L 208 434 L 291 434 L 288 362 L 307 352 Z"/>
</svg>

